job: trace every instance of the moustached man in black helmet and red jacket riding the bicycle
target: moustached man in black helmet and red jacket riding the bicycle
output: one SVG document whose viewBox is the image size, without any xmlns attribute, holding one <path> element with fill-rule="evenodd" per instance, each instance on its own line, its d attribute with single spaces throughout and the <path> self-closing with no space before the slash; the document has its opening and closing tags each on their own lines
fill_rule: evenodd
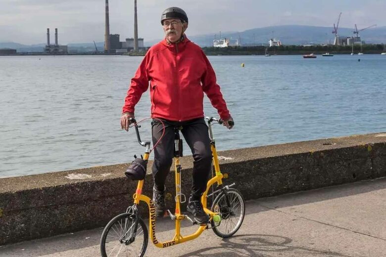
<svg viewBox="0 0 386 257">
<path fill-rule="evenodd" d="M 184 34 L 188 16 L 178 7 L 167 8 L 161 15 L 165 39 L 153 45 L 146 53 L 125 98 L 121 117 L 122 129 L 129 129 L 134 118 L 134 106 L 147 90 L 150 82 L 153 145 L 165 133 L 154 149 L 152 173 L 153 202 L 157 216 L 163 216 L 165 207 L 165 180 L 173 160 L 174 128 L 180 127 L 193 153 L 192 194 L 188 211 L 197 223 L 208 222 L 200 197 L 206 189 L 212 153 L 208 127 L 204 121 L 203 93 L 218 110 L 224 125 L 231 129 L 233 119 L 216 83 L 216 75 L 201 48 Z M 231 124 L 231 125 L 230 125 Z"/>
</svg>

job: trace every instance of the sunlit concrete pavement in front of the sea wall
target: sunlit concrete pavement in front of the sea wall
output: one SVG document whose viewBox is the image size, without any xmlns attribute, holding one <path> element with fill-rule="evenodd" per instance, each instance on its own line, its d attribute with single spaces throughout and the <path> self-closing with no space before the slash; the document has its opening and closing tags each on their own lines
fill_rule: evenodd
<svg viewBox="0 0 386 257">
<path fill-rule="evenodd" d="M 386 178 L 247 201 L 241 229 L 229 239 L 205 231 L 148 257 L 385 257 Z M 147 221 L 147 220 L 146 220 Z M 147 222 L 146 222 L 147 223 Z M 157 221 L 160 241 L 174 222 Z M 186 222 L 183 235 L 195 231 Z M 0 257 L 97 257 L 102 228 L 0 247 Z"/>
</svg>

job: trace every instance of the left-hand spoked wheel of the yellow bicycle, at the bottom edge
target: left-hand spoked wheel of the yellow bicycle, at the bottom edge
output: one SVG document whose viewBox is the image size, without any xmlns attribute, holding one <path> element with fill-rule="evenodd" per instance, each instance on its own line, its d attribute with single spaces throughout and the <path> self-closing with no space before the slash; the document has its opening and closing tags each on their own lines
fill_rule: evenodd
<svg viewBox="0 0 386 257">
<path fill-rule="evenodd" d="M 100 238 L 102 257 L 143 257 L 147 248 L 148 234 L 145 222 L 140 218 L 135 233 L 132 214 L 115 216 L 108 222 Z"/>
</svg>

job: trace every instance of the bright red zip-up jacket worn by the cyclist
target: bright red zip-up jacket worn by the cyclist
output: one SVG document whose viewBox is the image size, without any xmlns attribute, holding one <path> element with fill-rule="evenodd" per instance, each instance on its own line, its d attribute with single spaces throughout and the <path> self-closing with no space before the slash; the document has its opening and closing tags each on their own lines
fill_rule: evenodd
<svg viewBox="0 0 386 257">
<path fill-rule="evenodd" d="M 150 81 L 151 117 L 188 121 L 204 116 L 204 92 L 224 120 L 230 117 L 216 75 L 202 49 L 185 39 L 166 40 L 146 53 L 127 91 L 123 112 L 133 112 Z"/>
</svg>

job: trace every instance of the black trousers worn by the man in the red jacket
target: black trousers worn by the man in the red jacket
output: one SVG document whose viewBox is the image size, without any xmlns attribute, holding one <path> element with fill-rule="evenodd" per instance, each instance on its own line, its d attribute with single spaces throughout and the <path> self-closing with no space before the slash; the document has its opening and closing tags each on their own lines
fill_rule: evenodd
<svg viewBox="0 0 386 257">
<path fill-rule="evenodd" d="M 203 118 L 186 122 L 173 122 L 162 120 L 165 125 L 165 134 L 154 149 L 154 163 L 152 167 L 155 188 L 163 190 L 166 176 L 170 171 L 174 156 L 174 129 L 182 127 L 181 132 L 192 150 L 193 154 L 193 200 L 199 200 L 206 189 L 212 163 L 208 126 Z M 163 129 L 160 121 L 153 119 L 151 132 L 153 145 L 156 144 Z"/>
</svg>

